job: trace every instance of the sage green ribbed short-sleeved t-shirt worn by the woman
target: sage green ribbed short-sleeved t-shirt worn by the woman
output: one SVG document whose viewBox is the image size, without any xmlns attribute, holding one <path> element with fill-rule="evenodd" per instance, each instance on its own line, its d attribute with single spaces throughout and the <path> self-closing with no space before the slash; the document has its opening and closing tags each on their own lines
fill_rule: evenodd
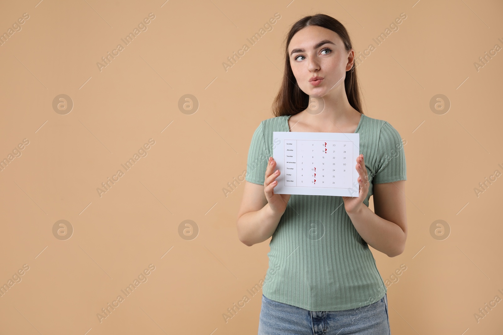
<svg viewBox="0 0 503 335">
<path fill-rule="evenodd" d="M 273 156 L 273 132 L 289 132 L 289 118 L 274 117 L 257 127 L 245 180 L 264 184 Z M 386 121 L 362 114 L 355 133 L 360 134 L 360 154 L 369 174 L 364 200 L 368 206 L 373 184 L 407 179 L 405 154 L 400 135 Z M 271 300 L 311 311 L 334 311 L 369 305 L 387 291 L 341 196 L 292 194 L 269 246 L 262 292 Z"/>
</svg>

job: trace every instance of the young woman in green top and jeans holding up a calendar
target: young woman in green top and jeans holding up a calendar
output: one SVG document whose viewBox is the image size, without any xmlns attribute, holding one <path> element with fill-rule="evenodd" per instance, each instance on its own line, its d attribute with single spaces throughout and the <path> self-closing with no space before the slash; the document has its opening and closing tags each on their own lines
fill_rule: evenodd
<svg viewBox="0 0 503 335">
<path fill-rule="evenodd" d="M 297 21 L 285 57 L 275 117 L 251 140 L 237 217 L 245 245 L 272 236 L 259 334 L 390 334 L 387 288 L 368 245 L 389 257 L 405 248 L 402 140 L 388 122 L 362 113 L 355 51 L 339 21 L 323 14 Z M 359 196 L 275 194 L 275 131 L 359 133 Z"/>
</svg>

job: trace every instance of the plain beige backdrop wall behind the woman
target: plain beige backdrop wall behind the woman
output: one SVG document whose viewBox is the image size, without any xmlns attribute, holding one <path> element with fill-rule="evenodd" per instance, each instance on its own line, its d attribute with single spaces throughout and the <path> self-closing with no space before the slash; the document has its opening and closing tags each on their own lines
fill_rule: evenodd
<svg viewBox="0 0 503 335">
<path fill-rule="evenodd" d="M 478 322 L 474 316 L 503 299 L 503 177 L 478 197 L 474 191 L 503 172 L 503 51 L 478 71 L 474 65 L 503 47 L 500 2 L 1 6 L 1 33 L 29 15 L 0 46 L 0 159 L 29 141 L 0 172 L 0 284 L 21 279 L 0 297 L 1 334 L 257 333 L 262 292 L 247 290 L 265 276 L 268 242 L 239 242 L 243 184 L 227 196 L 223 189 L 246 169 L 253 131 L 272 117 L 289 26 L 318 12 L 347 27 L 357 52 L 374 44 L 358 66 L 364 113 L 406 141 L 406 249 L 395 258 L 373 250 L 383 279 L 395 281 L 391 332 L 501 333 L 503 302 Z M 97 62 L 149 13 L 147 30 L 100 71 Z M 246 39 L 275 13 L 273 30 L 251 46 Z M 400 13 L 407 18 L 398 31 L 377 46 L 372 39 Z M 243 44 L 250 49 L 225 71 L 222 63 Z M 73 102 L 66 115 L 53 109 L 59 94 Z M 179 109 L 185 94 L 199 102 L 191 115 Z M 430 108 L 437 94 L 451 104 L 442 115 Z M 101 183 L 124 172 L 121 164 L 149 139 L 147 156 L 100 197 Z M 52 231 L 61 219 L 73 228 L 66 240 Z M 430 233 L 438 219 L 447 239 Z M 197 238 L 179 234 L 184 220 L 195 222 Z M 16 277 L 24 264 L 29 270 Z M 147 281 L 100 322 L 97 313 L 150 264 L 155 270 L 140 276 Z M 392 277 L 401 264 L 406 271 Z M 249 302 L 225 322 L 244 295 Z"/>
</svg>

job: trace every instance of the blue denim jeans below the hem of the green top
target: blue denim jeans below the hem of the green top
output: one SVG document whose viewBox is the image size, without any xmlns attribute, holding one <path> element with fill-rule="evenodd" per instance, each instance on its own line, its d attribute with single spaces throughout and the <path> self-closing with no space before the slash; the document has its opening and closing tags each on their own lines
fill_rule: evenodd
<svg viewBox="0 0 503 335">
<path fill-rule="evenodd" d="M 354 309 L 310 311 L 262 294 L 259 335 L 390 335 L 388 299 Z"/>
</svg>

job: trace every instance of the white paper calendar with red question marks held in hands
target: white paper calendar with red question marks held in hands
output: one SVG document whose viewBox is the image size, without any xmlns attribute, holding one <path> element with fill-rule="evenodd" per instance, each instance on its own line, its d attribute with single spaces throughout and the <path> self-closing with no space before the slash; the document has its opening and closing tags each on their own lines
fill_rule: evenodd
<svg viewBox="0 0 503 335">
<path fill-rule="evenodd" d="M 358 196 L 358 133 L 273 132 L 278 194 Z"/>
</svg>

